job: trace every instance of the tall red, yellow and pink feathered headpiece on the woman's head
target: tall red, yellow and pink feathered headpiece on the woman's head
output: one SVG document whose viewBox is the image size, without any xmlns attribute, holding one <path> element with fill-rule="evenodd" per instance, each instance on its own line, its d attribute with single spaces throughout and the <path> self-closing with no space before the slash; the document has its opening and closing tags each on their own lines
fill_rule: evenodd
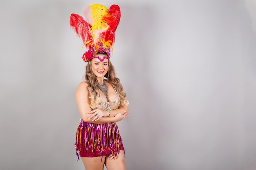
<svg viewBox="0 0 256 170">
<path fill-rule="evenodd" d="M 89 50 L 83 54 L 83 60 L 89 62 L 97 53 L 112 53 L 115 31 L 120 21 L 121 11 L 118 5 L 109 9 L 104 5 L 92 4 L 83 11 L 85 20 L 78 14 L 70 16 L 70 26 L 83 40 L 83 46 Z"/>
</svg>

